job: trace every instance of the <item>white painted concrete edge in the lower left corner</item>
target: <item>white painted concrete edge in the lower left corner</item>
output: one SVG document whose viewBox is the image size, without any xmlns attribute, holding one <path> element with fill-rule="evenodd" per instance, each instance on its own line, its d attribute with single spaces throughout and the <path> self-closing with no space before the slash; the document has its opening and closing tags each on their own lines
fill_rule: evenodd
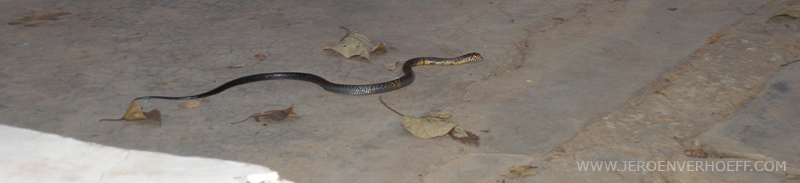
<svg viewBox="0 0 800 183">
<path fill-rule="evenodd" d="M 0 125 L 3 182 L 289 183 L 267 167 L 127 150 Z"/>
</svg>

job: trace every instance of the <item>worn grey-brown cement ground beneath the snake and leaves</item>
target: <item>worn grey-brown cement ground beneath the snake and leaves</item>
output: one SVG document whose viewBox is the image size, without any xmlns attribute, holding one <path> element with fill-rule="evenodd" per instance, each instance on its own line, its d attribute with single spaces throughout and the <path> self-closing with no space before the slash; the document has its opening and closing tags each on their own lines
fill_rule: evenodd
<svg viewBox="0 0 800 183">
<path fill-rule="evenodd" d="M 796 1 L 4 1 L 0 123 L 88 142 L 267 166 L 296 182 L 800 182 Z M 324 51 L 344 31 L 385 42 L 372 62 Z M 240 86 L 200 108 L 149 100 L 161 126 L 98 122 L 144 95 L 181 96 L 264 72 L 391 80 L 419 116 L 449 111 L 481 137 L 419 139 L 378 95 L 300 81 Z M 255 54 L 264 54 L 259 61 Z M 227 66 L 247 62 L 241 69 Z M 230 125 L 294 104 L 301 118 Z M 484 130 L 481 132 L 481 130 Z M 782 171 L 579 171 L 577 161 L 784 161 Z M 536 175 L 504 177 L 510 166 Z"/>
</svg>

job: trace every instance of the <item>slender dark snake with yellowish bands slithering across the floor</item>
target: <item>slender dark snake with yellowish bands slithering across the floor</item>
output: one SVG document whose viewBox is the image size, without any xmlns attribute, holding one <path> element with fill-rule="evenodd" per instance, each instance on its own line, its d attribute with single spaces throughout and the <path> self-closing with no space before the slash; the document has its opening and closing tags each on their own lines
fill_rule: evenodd
<svg viewBox="0 0 800 183">
<path fill-rule="evenodd" d="M 325 78 L 319 77 L 314 74 L 309 73 L 300 73 L 300 72 L 273 72 L 273 73 L 261 73 L 261 74 L 254 74 L 249 76 L 244 76 L 241 78 L 237 78 L 231 81 L 228 81 L 221 86 L 214 88 L 211 91 L 191 95 L 191 96 L 183 96 L 183 97 L 166 97 L 166 96 L 143 96 L 137 97 L 134 100 L 141 100 L 141 99 L 167 99 L 167 100 L 188 100 L 188 99 L 196 99 L 196 98 L 205 98 L 211 95 L 218 94 L 222 91 L 225 91 L 231 87 L 242 85 L 246 83 L 256 82 L 256 81 L 266 81 L 266 80 L 301 80 L 307 81 L 314 84 L 317 84 L 322 87 L 322 89 L 341 93 L 341 94 L 349 94 L 349 95 L 368 95 L 368 94 L 376 94 L 376 93 L 383 93 L 389 92 L 393 90 L 397 90 L 408 86 L 411 82 L 414 82 L 414 71 L 411 70 L 411 67 L 420 66 L 420 65 L 458 65 L 467 62 L 476 61 L 478 59 L 483 59 L 481 54 L 478 53 L 469 53 L 460 57 L 455 58 L 436 58 L 436 57 L 418 57 L 412 58 L 406 61 L 403 64 L 403 73 L 404 75 L 383 83 L 375 83 L 375 84 L 365 84 L 365 85 L 346 85 L 346 84 L 338 84 L 333 83 Z"/>
</svg>

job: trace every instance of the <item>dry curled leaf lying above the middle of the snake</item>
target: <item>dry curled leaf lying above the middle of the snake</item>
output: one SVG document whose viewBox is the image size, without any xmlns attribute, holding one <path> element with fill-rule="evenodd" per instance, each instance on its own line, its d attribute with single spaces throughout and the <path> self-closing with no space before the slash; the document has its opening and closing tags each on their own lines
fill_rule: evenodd
<svg viewBox="0 0 800 183">
<path fill-rule="evenodd" d="M 369 60 L 369 53 L 374 52 L 377 50 L 386 51 L 386 45 L 382 42 L 377 46 L 373 45 L 369 38 L 363 34 L 359 33 L 350 33 L 350 30 L 347 28 L 341 27 L 344 30 L 347 30 L 347 34 L 339 40 L 337 44 L 327 44 L 325 45 L 326 50 L 332 49 L 336 52 L 339 52 L 345 58 L 350 58 L 355 55 L 361 56 Z"/>
</svg>

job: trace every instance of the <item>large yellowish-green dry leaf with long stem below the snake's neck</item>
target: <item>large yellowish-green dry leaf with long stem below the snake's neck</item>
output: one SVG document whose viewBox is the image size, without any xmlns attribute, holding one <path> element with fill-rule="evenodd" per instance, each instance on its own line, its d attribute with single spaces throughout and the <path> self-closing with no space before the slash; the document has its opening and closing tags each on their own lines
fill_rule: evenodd
<svg viewBox="0 0 800 183">
<path fill-rule="evenodd" d="M 445 134 L 451 133 L 451 131 L 453 131 L 453 129 L 455 128 L 461 129 L 461 127 L 458 127 L 457 124 L 447 120 L 447 118 L 450 118 L 450 114 L 448 113 L 432 112 L 423 115 L 422 117 L 408 116 L 400 112 L 397 112 L 391 107 L 389 107 L 389 105 L 386 105 L 386 102 L 383 102 L 383 97 L 378 97 L 378 100 L 381 102 L 381 104 L 383 104 L 383 106 L 386 106 L 387 109 L 391 110 L 394 113 L 397 113 L 400 116 L 403 116 L 403 122 L 401 123 L 403 127 L 405 127 L 406 130 L 408 130 L 408 132 L 411 132 L 411 134 L 414 134 L 414 136 L 417 136 L 419 138 L 427 139 L 427 138 L 444 136 Z M 468 140 L 474 140 L 474 142 L 462 140 L 463 143 L 469 142 L 467 144 L 478 146 L 477 141 L 479 140 L 479 138 L 477 135 L 472 134 L 472 136 L 470 136 L 469 134 L 471 134 L 472 132 L 467 132 L 466 130 L 463 129 L 461 129 L 460 131 L 463 132 L 460 132 L 458 135 L 461 135 Z"/>
</svg>

